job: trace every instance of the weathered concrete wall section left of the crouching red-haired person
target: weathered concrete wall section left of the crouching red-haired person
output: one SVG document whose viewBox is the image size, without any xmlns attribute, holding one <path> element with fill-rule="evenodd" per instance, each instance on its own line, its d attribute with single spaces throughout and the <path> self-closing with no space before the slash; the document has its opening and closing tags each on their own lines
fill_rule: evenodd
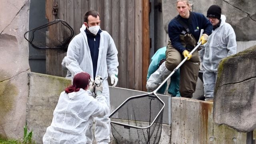
<svg viewBox="0 0 256 144">
<path fill-rule="evenodd" d="M 33 130 L 37 144 L 42 143 L 46 128 L 52 122 L 53 111 L 60 92 L 71 84 L 66 78 L 45 74 L 29 74 L 29 96 L 27 103 L 27 124 Z"/>
</svg>

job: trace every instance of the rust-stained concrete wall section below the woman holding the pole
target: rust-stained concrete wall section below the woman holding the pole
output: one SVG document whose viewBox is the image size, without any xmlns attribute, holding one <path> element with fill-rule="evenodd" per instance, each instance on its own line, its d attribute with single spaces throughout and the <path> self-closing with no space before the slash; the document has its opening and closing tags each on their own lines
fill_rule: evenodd
<svg viewBox="0 0 256 144">
<path fill-rule="evenodd" d="M 171 144 L 246 144 L 246 133 L 213 122 L 213 102 L 172 98 Z"/>
</svg>

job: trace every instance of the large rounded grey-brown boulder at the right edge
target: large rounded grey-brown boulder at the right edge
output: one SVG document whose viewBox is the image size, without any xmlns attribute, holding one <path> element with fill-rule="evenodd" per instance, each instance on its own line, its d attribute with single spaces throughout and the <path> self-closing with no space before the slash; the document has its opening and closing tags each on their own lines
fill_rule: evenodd
<svg viewBox="0 0 256 144">
<path fill-rule="evenodd" d="M 224 58 L 214 91 L 214 122 L 239 132 L 256 129 L 256 46 Z"/>
</svg>

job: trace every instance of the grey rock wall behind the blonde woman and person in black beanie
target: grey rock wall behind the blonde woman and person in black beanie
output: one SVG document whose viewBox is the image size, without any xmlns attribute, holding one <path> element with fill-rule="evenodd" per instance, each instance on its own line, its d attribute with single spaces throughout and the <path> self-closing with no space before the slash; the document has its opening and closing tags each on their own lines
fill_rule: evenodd
<svg viewBox="0 0 256 144">
<path fill-rule="evenodd" d="M 212 4 L 222 8 L 222 14 L 227 17 L 226 22 L 231 24 L 236 32 L 237 41 L 256 40 L 255 0 L 194 0 L 193 11 L 206 16 L 207 10 Z M 166 25 L 178 14 L 176 0 L 162 0 L 162 9 L 163 23 L 167 30 Z"/>
</svg>

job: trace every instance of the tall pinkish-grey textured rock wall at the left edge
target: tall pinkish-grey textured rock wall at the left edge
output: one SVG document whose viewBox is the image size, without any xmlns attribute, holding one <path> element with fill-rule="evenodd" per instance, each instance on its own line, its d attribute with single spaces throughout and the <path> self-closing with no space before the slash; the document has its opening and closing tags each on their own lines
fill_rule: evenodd
<svg viewBox="0 0 256 144">
<path fill-rule="evenodd" d="M 0 138 L 21 138 L 28 98 L 29 0 L 0 4 Z"/>
</svg>

